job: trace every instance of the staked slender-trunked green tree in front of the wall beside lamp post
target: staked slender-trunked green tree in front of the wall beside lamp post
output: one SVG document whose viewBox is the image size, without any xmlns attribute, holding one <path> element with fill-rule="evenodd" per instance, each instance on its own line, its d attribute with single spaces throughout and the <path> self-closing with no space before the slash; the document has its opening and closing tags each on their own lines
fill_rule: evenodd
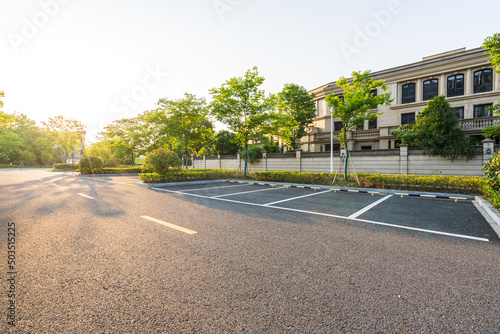
<svg viewBox="0 0 500 334">
<path fill-rule="evenodd" d="M 343 95 L 335 96 L 330 94 L 326 97 L 326 102 L 332 111 L 332 117 L 338 117 L 342 121 L 343 128 L 338 139 L 346 149 L 346 159 L 344 168 L 344 177 L 347 179 L 347 166 L 349 162 L 348 138 L 347 132 L 355 130 L 365 120 L 374 121 L 381 113 L 375 113 L 372 110 L 377 105 L 390 105 L 393 101 L 391 93 L 374 94 L 377 88 L 387 91 L 388 87 L 383 80 L 373 80 L 370 77 L 370 71 L 353 72 L 353 78 L 340 78 L 337 86 L 342 88 Z"/>
</svg>

